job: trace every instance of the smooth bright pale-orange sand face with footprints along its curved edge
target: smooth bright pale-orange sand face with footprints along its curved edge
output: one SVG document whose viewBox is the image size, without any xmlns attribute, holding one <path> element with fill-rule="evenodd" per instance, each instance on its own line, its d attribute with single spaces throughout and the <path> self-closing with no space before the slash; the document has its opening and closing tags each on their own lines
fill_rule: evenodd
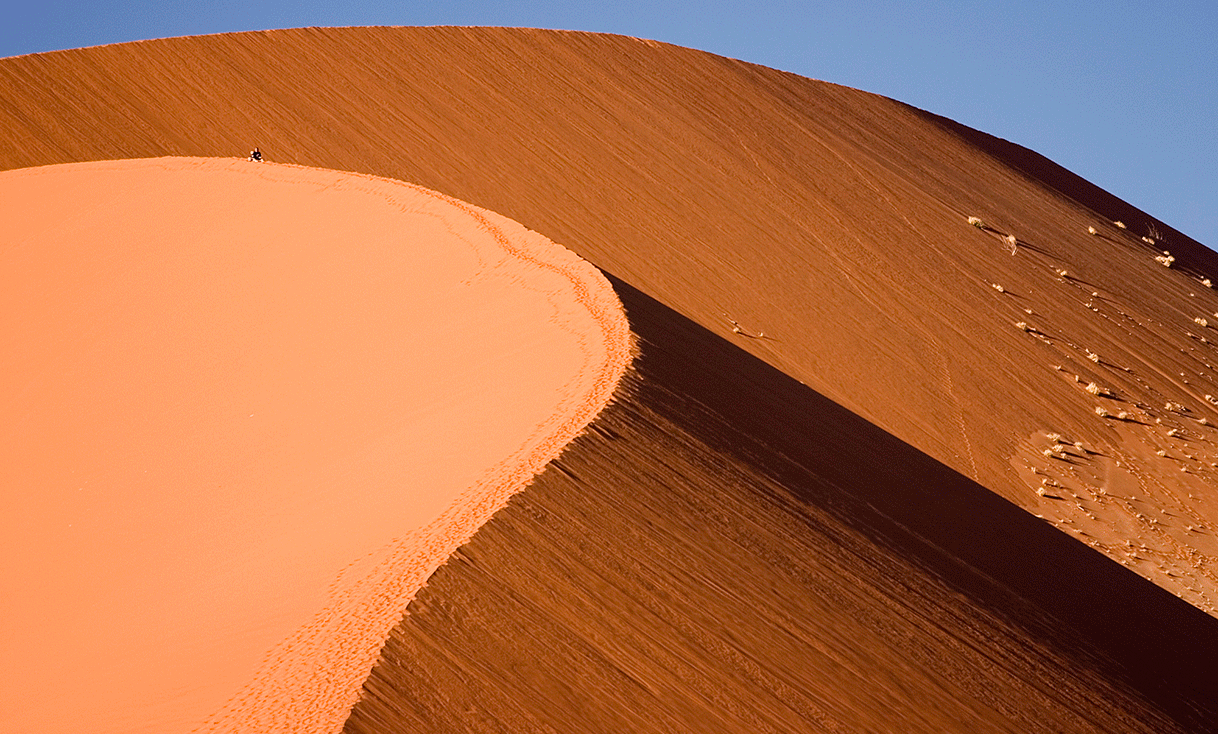
<svg viewBox="0 0 1218 734">
<path fill-rule="evenodd" d="M 0 223 L 6 732 L 340 729 L 630 360 L 593 267 L 387 179 L 54 166 Z"/>
</svg>

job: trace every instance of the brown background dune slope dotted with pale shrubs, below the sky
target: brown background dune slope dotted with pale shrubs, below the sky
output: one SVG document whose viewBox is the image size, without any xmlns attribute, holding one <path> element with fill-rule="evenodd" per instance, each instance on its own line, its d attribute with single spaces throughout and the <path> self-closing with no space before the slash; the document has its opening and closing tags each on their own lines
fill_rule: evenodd
<svg viewBox="0 0 1218 734">
<path fill-rule="evenodd" d="M 1218 601 L 1218 260 L 1030 151 L 741 61 L 525 29 L 26 56 L 0 62 L 0 167 L 261 145 L 501 212 Z"/>
</svg>

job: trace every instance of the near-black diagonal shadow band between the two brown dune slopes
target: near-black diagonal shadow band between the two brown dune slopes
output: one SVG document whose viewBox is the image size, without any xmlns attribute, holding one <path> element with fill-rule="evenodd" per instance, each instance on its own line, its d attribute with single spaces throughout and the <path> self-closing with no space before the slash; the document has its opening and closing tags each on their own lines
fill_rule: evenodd
<svg viewBox="0 0 1218 734">
<path fill-rule="evenodd" d="M 1218 620 L 610 276 L 646 398 L 1186 730 L 1218 730 Z M 693 400 L 734 431 L 681 415 Z M 738 433 L 737 433 L 738 431 Z M 741 436 L 743 433 L 743 436 Z"/>
</svg>

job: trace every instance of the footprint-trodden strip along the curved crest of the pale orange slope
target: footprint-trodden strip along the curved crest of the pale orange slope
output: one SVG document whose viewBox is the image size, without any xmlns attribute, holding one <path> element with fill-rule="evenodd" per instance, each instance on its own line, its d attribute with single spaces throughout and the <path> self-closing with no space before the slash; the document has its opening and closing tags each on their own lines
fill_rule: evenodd
<svg viewBox="0 0 1218 734">
<path fill-rule="evenodd" d="M 340 573 L 330 587 L 326 607 L 272 650 L 253 680 L 197 732 L 341 732 L 363 682 L 415 593 L 611 402 L 633 359 L 621 302 L 593 265 L 510 219 L 437 191 L 398 184 L 473 218 L 509 256 L 564 276 L 600 330 L 605 360 L 593 374 L 583 375 L 587 390 L 576 404 L 559 405 L 549 421 L 537 426 L 530 438 L 543 436 L 538 444 L 487 471 L 428 527 Z"/>
</svg>

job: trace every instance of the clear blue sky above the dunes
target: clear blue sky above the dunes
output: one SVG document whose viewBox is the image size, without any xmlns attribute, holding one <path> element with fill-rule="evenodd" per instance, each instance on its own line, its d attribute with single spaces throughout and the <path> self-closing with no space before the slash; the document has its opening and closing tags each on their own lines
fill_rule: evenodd
<svg viewBox="0 0 1218 734">
<path fill-rule="evenodd" d="M 1218 248 L 1218 0 L 18 2 L 0 13 L 0 57 L 298 26 L 521 26 L 664 40 L 1006 138 Z"/>
</svg>

